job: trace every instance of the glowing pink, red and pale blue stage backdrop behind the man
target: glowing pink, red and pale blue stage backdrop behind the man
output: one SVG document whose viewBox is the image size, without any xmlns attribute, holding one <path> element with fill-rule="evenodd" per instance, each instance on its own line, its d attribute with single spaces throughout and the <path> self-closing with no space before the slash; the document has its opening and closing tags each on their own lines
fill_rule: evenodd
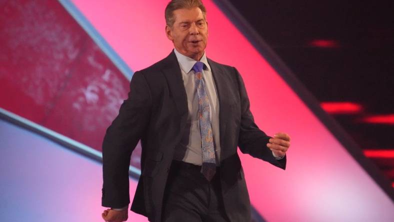
<svg viewBox="0 0 394 222">
<path fill-rule="evenodd" d="M 164 33 L 166 2 L 0 3 L 0 111 L 24 126 L 0 122 L 4 220 L 100 220 L 100 164 L 41 135 L 99 159 L 105 128 L 126 98 L 133 70 L 172 49 Z M 262 130 L 292 138 L 285 171 L 240 153 L 254 220 L 392 221 L 390 198 L 220 8 L 204 3 L 207 56 L 239 70 Z M 130 162 L 133 175 L 139 154 L 138 145 Z M 130 177 L 131 199 L 135 178 Z M 146 220 L 130 213 L 129 221 Z"/>
</svg>

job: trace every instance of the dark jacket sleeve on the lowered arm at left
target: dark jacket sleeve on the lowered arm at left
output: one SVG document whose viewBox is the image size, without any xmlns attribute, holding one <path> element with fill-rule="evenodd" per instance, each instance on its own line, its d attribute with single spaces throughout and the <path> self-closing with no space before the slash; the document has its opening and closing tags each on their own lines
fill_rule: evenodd
<svg viewBox="0 0 394 222">
<path fill-rule="evenodd" d="M 151 103 L 145 77 L 141 72 L 135 72 L 130 81 L 128 97 L 107 128 L 102 144 L 102 206 L 121 208 L 130 202 L 130 155 L 138 140 L 145 134 Z"/>
</svg>

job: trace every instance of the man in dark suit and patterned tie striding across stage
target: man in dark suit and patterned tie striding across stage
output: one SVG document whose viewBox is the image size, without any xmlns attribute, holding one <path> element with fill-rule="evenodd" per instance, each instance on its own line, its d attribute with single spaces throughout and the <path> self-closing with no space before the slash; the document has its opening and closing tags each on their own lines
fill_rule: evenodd
<svg viewBox="0 0 394 222">
<path fill-rule="evenodd" d="M 105 221 L 125 221 L 128 165 L 141 140 L 141 175 L 131 210 L 149 221 L 249 221 L 237 146 L 285 168 L 289 136 L 267 136 L 253 121 L 242 78 L 206 57 L 200 0 L 171 0 L 166 35 L 174 50 L 136 71 L 128 98 L 103 141 Z"/>
</svg>

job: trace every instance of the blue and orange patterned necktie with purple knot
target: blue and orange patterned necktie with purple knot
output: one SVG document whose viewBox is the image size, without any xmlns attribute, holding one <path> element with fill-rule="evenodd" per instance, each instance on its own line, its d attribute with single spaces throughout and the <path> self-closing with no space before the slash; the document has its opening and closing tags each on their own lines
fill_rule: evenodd
<svg viewBox="0 0 394 222">
<path fill-rule="evenodd" d="M 215 150 L 213 147 L 212 127 L 210 125 L 210 107 L 208 95 L 202 78 L 202 67 L 204 63 L 197 61 L 193 65 L 195 72 L 194 80 L 198 95 L 198 116 L 201 133 L 202 166 L 201 173 L 207 180 L 211 180 L 216 172 Z"/>
</svg>

